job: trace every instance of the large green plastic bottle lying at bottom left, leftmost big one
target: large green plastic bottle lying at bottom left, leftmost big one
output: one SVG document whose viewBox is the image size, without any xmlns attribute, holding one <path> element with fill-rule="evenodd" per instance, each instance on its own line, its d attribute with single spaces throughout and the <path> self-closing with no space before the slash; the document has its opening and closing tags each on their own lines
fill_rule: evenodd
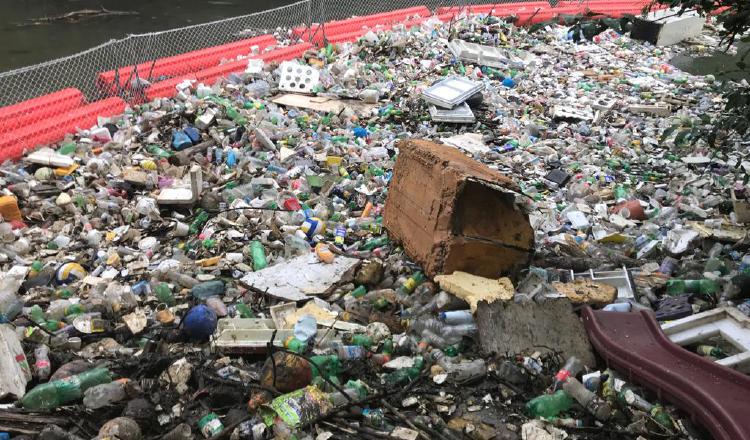
<svg viewBox="0 0 750 440">
<path fill-rule="evenodd" d="M 37 385 L 21 399 L 24 408 L 33 411 L 52 410 L 66 403 L 76 401 L 87 389 L 112 382 L 106 368 L 94 368 L 64 379 Z"/>
</svg>

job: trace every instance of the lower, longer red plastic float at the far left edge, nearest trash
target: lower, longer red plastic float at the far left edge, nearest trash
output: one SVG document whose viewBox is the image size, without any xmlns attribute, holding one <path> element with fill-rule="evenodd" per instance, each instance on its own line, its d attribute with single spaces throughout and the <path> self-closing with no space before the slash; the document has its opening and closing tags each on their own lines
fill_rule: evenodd
<svg viewBox="0 0 750 440">
<path fill-rule="evenodd" d="M 0 139 L 0 162 L 20 159 L 25 150 L 57 142 L 78 128 L 89 128 L 99 116 L 118 115 L 126 105 L 120 98 L 104 99 L 5 133 Z"/>
</svg>

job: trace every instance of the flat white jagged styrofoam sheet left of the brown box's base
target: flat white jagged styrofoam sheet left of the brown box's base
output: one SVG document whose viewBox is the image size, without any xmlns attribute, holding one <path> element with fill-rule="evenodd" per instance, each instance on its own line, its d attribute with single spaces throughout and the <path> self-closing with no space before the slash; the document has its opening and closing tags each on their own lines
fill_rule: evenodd
<svg viewBox="0 0 750 440">
<path fill-rule="evenodd" d="M 318 261 L 314 254 L 250 272 L 240 281 L 246 286 L 287 301 L 300 301 L 320 295 L 352 279 L 360 260 L 337 255 L 331 264 Z"/>
</svg>

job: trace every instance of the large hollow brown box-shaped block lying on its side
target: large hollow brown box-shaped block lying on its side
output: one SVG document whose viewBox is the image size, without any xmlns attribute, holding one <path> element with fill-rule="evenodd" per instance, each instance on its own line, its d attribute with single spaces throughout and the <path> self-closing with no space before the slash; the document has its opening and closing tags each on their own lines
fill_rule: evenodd
<svg viewBox="0 0 750 440">
<path fill-rule="evenodd" d="M 427 274 L 514 278 L 528 266 L 534 231 L 513 181 L 455 148 L 398 146 L 384 226 Z"/>
</svg>

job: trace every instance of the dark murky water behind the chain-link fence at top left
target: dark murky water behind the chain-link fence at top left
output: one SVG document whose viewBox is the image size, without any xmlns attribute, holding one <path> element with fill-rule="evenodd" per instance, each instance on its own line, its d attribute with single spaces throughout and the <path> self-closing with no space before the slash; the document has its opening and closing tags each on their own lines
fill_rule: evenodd
<svg viewBox="0 0 750 440">
<path fill-rule="evenodd" d="M 0 72 L 70 55 L 112 38 L 251 14 L 294 0 L 0 0 Z M 34 24 L 32 19 L 106 8 L 137 15 Z"/>
</svg>

